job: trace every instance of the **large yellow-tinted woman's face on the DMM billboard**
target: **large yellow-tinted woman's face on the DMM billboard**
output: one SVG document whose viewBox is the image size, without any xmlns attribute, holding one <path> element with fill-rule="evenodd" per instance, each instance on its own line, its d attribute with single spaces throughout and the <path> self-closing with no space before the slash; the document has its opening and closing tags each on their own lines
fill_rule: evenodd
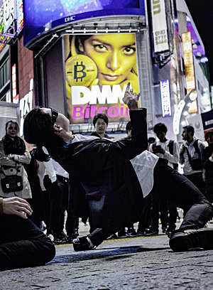
<svg viewBox="0 0 213 290">
<path fill-rule="evenodd" d="M 136 65 L 134 34 L 104 34 L 89 37 L 79 49 L 94 60 L 101 85 L 117 85 L 129 80 Z"/>
</svg>

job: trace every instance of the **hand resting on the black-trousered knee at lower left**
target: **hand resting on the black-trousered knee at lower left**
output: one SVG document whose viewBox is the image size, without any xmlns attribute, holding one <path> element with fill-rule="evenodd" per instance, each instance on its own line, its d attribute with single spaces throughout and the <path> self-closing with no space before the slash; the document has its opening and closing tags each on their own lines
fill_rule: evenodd
<svg viewBox="0 0 213 290">
<path fill-rule="evenodd" d="M 27 219 L 26 214 L 32 215 L 33 210 L 23 198 L 3 198 L 3 213 L 6 215 L 18 215 L 18 217 Z"/>
</svg>

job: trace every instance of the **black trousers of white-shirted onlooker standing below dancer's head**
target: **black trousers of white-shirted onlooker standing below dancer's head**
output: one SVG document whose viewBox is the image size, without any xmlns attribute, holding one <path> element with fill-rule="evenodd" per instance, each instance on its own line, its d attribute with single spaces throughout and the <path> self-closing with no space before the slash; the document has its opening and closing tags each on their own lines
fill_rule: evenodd
<svg viewBox="0 0 213 290">
<path fill-rule="evenodd" d="M 69 181 L 67 178 L 57 175 L 57 180 L 51 183 L 50 178 L 45 176 L 44 186 L 47 190 L 48 199 L 47 210 L 47 233 L 58 237 L 63 229 L 65 222 L 65 210 L 67 210 L 69 200 Z"/>
</svg>

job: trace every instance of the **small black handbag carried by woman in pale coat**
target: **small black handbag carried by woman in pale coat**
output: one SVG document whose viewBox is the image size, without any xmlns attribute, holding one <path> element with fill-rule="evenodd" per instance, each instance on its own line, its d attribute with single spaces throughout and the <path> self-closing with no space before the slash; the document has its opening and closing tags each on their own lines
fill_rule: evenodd
<svg viewBox="0 0 213 290">
<path fill-rule="evenodd" d="M 18 171 L 17 171 L 18 172 Z M 4 171 L 1 171 L 4 174 L 4 178 L 1 178 L 1 188 L 4 193 L 12 193 L 14 191 L 23 190 L 23 179 L 22 176 L 11 175 L 6 176 Z"/>
</svg>

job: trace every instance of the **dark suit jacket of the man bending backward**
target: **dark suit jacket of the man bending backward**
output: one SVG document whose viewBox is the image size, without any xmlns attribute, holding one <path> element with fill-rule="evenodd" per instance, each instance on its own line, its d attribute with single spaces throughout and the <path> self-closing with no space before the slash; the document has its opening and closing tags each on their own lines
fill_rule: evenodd
<svg viewBox="0 0 213 290">
<path fill-rule="evenodd" d="M 91 231 L 138 221 L 143 193 L 130 160 L 147 149 L 146 109 L 130 111 L 130 117 L 130 139 L 65 144 L 57 156 L 48 148 L 50 155 L 70 173 L 71 183 L 74 179 L 84 188 Z M 77 198 L 77 190 L 74 191 Z"/>
</svg>

